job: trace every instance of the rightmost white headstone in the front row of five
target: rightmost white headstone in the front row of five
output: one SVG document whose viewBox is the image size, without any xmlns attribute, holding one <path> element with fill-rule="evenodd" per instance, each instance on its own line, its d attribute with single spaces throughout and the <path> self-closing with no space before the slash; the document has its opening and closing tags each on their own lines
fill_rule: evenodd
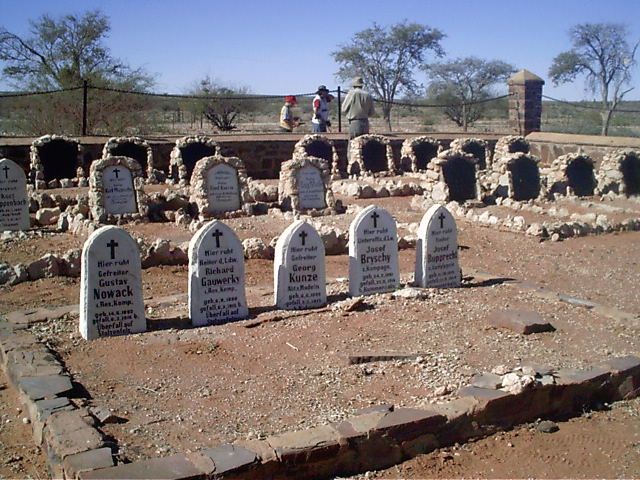
<svg viewBox="0 0 640 480">
<path fill-rule="evenodd" d="M 422 217 L 416 243 L 416 283 L 425 288 L 459 287 L 458 231 L 449 210 L 433 205 Z"/>
</svg>

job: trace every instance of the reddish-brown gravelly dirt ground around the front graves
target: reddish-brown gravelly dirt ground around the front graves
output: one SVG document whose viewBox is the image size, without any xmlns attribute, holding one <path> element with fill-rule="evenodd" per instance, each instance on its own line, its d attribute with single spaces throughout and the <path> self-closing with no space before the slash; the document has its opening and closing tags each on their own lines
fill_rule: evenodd
<svg viewBox="0 0 640 480">
<path fill-rule="evenodd" d="M 409 233 L 410 224 L 424 213 L 411 208 L 410 198 L 344 200 L 387 208 L 399 222 L 400 234 Z M 597 199 L 586 205 L 567 201 L 562 207 L 569 213 L 584 213 L 585 208 L 601 213 Z M 619 208 L 635 210 L 629 216 L 640 216 L 638 202 Z M 347 229 L 352 218 L 353 214 L 345 214 L 318 221 Z M 289 221 L 261 216 L 226 223 L 241 239 L 259 236 L 269 242 Z M 182 242 L 192 235 L 175 225 L 126 228 L 149 243 L 156 237 Z M 272 306 L 273 263 L 249 260 L 250 318 L 188 328 L 187 267 L 164 266 L 144 270 L 145 299 L 182 296 L 147 309 L 147 333 L 85 342 L 78 334 L 76 316 L 32 328 L 86 389 L 89 402 L 122 419 L 103 430 L 117 440 L 119 457 L 129 460 L 303 429 L 380 403 L 425 407 L 453 398 L 474 373 L 498 365 L 582 367 L 609 356 L 640 353 L 640 232 L 540 242 L 466 220 L 458 221 L 458 230 L 463 288 L 430 289 L 425 299 L 375 295 L 366 297 L 359 310 L 346 311 L 348 258 L 339 255 L 327 257 L 327 308 L 278 311 Z M 79 248 L 83 241 L 45 231 L 0 244 L 0 261 L 32 261 L 46 252 Z M 412 280 L 414 257 L 413 249 L 400 252 L 403 283 Z M 526 283 L 483 282 L 474 272 Z M 53 278 L 0 287 L 0 314 L 77 304 L 79 283 L 75 278 Z M 533 285 L 623 310 L 635 315 L 635 321 L 543 298 Z M 492 327 L 491 312 L 505 308 L 535 311 L 556 331 L 522 336 Z M 362 365 L 346 360 L 349 355 L 378 352 L 419 357 Z M 436 397 L 438 387 L 451 393 Z M 22 424 L 12 395 L 10 388 L 0 390 L 4 449 L 0 454 L 16 459 L 0 462 L 0 477 L 44 477 L 42 458 L 30 443 L 29 425 Z M 522 427 L 369 476 L 638 476 L 639 408 L 638 401 L 622 402 L 611 411 L 561 423 L 554 434 Z"/>
</svg>

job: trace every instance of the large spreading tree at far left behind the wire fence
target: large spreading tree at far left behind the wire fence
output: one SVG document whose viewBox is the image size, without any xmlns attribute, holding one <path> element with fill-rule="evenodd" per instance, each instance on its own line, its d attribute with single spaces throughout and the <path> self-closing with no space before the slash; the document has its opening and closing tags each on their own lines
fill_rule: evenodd
<svg viewBox="0 0 640 480">
<path fill-rule="evenodd" d="M 111 55 L 104 44 L 109 19 L 99 10 L 57 19 L 43 15 L 30 23 L 30 34 L 25 37 L 0 27 L 2 73 L 15 87 L 69 89 L 86 80 L 94 87 L 145 92 L 153 85 L 153 78 L 144 70 L 133 69 Z M 78 92 L 27 100 L 39 113 L 37 119 L 29 120 L 33 133 L 78 130 L 82 112 Z M 135 125 L 139 131 L 147 103 L 138 95 L 91 91 L 89 128 L 94 133 L 116 133 Z"/>
</svg>

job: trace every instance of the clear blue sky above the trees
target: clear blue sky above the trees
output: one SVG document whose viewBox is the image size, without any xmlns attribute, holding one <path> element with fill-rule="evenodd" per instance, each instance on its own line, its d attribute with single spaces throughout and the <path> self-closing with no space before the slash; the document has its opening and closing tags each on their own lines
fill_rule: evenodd
<svg viewBox="0 0 640 480">
<path fill-rule="evenodd" d="M 592 99 L 581 80 L 555 87 L 548 79 L 553 57 L 570 48 L 568 30 L 585 22 L 624 23 L 630 40 L 640 39 L 638 0 L 0 0 L 0 26 L 27 36 L 29 20 L 43 14 L 95 8 L 111 21 L 112 55 L 155 75 L 155 91 L 164 93 L 186 93 L 205 76 L 255 94 L 312 92 L 319 84 L 348 88 L 335 77 L 331 52 L 374 22 L 408 20 L 445 33 L 445 60 L 503 60 L 542 77 L 545 95 Z M 633 76 L 627 98 L 638 100 L 640 67 Z M 427 83 L 421 71 L 416 78 Z M 0 89 L 9 89 L 3 78 Z"/>
</svg>

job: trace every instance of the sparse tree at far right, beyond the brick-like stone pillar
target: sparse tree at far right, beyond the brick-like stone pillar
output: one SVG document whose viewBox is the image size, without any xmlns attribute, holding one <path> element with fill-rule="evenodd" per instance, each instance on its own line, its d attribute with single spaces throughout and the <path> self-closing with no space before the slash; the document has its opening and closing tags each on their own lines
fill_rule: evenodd
<svg viewBox="0 0 640 480">
<path fill-rule="evenodd" d="M 624 88 L 631 81 L 640 42 L 631 47 L 627 27 L 617 23 L 583 23 L 574 26 L 569 35 L 573 48 L 553 59 L 549 76 L 554 85 L 585 76 L 587 89 L 600 95 L 602 135 L 607 135 L 614 111 L 633 90 Z"/>
</svg>

